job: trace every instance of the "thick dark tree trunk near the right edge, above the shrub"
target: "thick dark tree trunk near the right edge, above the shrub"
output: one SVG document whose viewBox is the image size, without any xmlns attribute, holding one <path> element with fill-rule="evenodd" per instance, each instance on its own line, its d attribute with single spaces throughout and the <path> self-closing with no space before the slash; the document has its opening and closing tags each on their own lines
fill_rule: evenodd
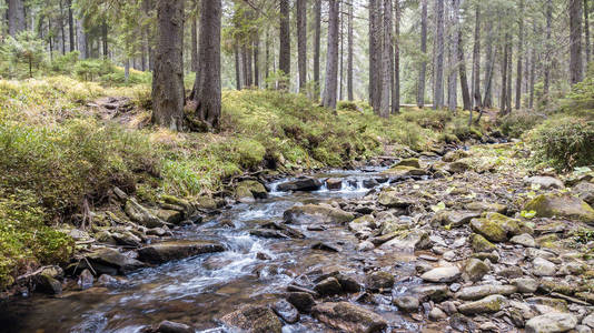
<svg viewBox="0 0 594 333">
<path fill-rule="evenodd" d="M 582 4 L 581 0 L 570 0 L 570 71 L 572 84 L 583 80 L 584 71 L 582 63 Z"/>
</svg>

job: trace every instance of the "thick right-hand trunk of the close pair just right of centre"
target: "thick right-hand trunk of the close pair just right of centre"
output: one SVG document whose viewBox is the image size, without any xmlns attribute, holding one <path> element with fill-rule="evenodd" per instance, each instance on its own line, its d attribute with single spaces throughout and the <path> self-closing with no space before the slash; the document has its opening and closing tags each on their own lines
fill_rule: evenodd
<svg viewBox="0 0 594 333">
<path fill-rule="evenodd" d="M 379 115 L 383 118 L 388 118 L 392 111 L 390 109 L 390 99 L 392 93 L 390 82 L 393 81 L 392 75 L 394 74 L 390 71 L 390 63 L 393 62 L 393 49 L 392 49 L 392 0 L 383 0 L 384 2 L 384 40 L 382 48 L 382 99 L 379 100 Z"/>
</svg>

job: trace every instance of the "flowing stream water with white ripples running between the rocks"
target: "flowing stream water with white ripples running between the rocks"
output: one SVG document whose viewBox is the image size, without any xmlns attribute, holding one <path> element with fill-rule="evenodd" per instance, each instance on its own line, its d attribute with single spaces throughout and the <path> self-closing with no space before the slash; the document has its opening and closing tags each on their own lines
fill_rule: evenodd
<svg viewBox="0 0 594 333">
<path fill-rule="evenodd" d="M 12 300 L 0 304 L 0 332 L 138 332 L 162 320 L 192 324 L 199 332 L 224 332 L 217 322 L 224 314 L 242 304 L 274 302 L 295 278 L 331 265 L 352 270 L 362 279 L 370 266 L 387 268 L 398 282 L 393 295 L 404 293 L 419 283 L 414 278 L 414 255 L 357 252 L 358 241 L 343 225 L 330 225 L 324 231 L 307 230 L 306 224 L 291 225 L 306 235 L 303 240 L 249 234 L 249 230 L 263 222 L 281 222 L 284 211 L 296 204 L 364 196 L 368 191 L 365 180 L 386 181 L 379 171 L 335 171 L 318 175 L 343 178 L 339 191 L 281 193 L 276 191 L 278 182 L 273 183 L 268 199 L 237 204 L 204 224 L 175 231 L 176 239 L 216 240 L 227 251 L 138 271 L 128 275 L 119 287 L 95 286 L 67 291 L 56 297 L 34 294 Z M 311 245 L 320 241 L 337 245 L 340 252 L 313 250 Z M 260 252 L 271 259 L 259 260 Z M 422 323 L 396 311 L 390 302 L 393 295 L 376 295 L 375 305 L 363 305 L 382 314 L 397 332 L 420 330 Z M 341 295 L 341 299 L 354 301 L 356 296 Z M 331 331 L 309 316 L 301 316 L 299 323 L 285 325 L 284 332 Z"/>
</svg>

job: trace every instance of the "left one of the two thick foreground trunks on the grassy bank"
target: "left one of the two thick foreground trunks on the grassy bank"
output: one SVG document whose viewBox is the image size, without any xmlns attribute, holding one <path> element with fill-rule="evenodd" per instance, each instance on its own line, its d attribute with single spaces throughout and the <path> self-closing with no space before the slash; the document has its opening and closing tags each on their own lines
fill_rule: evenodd
<svg viewBox="0 0 594 333">
<path fill-rule="evenodd" d="M 174 131 L 184 127 L 184 2 L 157 1 L 152 122 Z"/>
</svg>

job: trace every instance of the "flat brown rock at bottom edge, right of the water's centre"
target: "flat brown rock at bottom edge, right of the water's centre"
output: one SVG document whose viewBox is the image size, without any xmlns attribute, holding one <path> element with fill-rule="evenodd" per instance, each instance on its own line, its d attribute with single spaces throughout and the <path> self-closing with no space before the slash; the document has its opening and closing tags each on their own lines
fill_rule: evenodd
<svg viewBox="0 0 594 333">
<path fill-rule="evenodd" d="M 387 327 L 387 322 L 377 313 L 348 302 L 321 303 L 311 311 L 318 321 L 344 332 L 375 333 Z"/>
</svg>

